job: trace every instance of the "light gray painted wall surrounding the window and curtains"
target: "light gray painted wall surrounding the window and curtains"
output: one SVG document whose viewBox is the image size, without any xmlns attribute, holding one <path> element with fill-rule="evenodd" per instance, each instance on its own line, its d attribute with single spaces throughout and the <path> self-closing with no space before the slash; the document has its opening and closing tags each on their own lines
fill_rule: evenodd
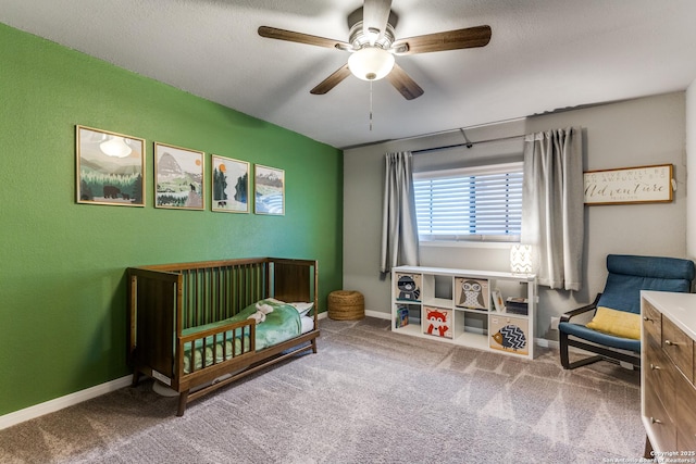
<svg viewBox="0 0 696 464">
<path fill-rule="evenodd" d="M 693 98 L 692 98 L 693 99 Z M 674 165 L 671 203 L 585 206 L 584 286 L 577 292 L 539 287 L 535 335 L 557 339 L 551 316 L 591 302 L 602 290 L 608 253 L 686 255 L 686 93 L 675 92 L 467 129 L 470 140 L 509 137 L 567 126 L 583 127 L 586 171 Z M 365 310 L 389 314 L 389 278 L 380 274 L 384 153 L 460 143 L 459 130 L 349 149 L 344 154 L 344 288 L 361 291 Z M 447 165 L 451 158 L 476 163 L 514 155 L 522 141 L 508 140 L 417 155 L 417 163 Z M 509 244 L 423 247 L 421 264 L 486 271 L 509 269 Z"/>
</svg>

